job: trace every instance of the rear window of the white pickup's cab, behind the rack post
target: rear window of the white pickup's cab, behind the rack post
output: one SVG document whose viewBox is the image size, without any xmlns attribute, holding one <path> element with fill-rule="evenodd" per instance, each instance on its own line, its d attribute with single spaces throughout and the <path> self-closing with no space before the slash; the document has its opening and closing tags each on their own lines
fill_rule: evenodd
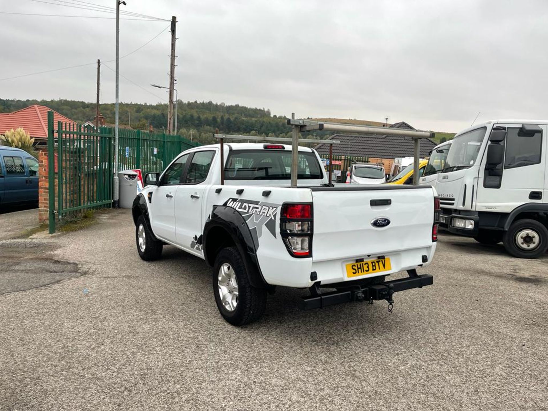
<svg viewBox="0 0 548 411">
<path fill-rule="evenodd" d="M 290 180 L 291 161 L 290 150 L 232 150 L 226 160 L 225 180 Z M 315 153 L 299 151 L 297 178 L 323 178 Z"/>
</svg>

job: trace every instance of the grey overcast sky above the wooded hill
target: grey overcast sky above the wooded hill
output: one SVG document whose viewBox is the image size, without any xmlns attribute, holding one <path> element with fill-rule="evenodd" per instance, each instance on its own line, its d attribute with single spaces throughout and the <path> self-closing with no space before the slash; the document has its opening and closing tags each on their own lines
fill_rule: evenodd
<svg viewBox="0 0 548 411">
<path fill-rule="evenodd" d="M 48 3 L 64 3 L 43 0 Z M 115 7 L 115 0 L 85 0 Z M 177 16 L 182 100 L 270 108 L 457 132 L 493 118 L 546 118 L 545 0 L 126 0 L 123 10 Z M 31 0 L 0 12 L 109 13 Z M 121 21 L 121 55 L 168 22 Z M 0 79 L 112 60 L 115 20 L 0 14 Z M 169 30 L 120 61 L 121 101 L 167 100 Z M 114 62 L 106 63 L 111 68 Z M 94 65 L 0 81 L 0 98 L 95 100 Z M 114 73 L 101 72 L 114 101 Z M 146 91 L 149 90 L 149 91 Z M 153 93 L 153 94 L 150 94 Z"/>
</svg>

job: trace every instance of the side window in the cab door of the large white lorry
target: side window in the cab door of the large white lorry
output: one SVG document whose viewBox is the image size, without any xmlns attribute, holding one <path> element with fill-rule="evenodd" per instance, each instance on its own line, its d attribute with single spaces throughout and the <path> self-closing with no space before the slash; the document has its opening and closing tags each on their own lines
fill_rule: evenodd
<svg viewBox="0 0 548 411">
<path fill-rule="evenodd" d="M 505 169 L 540 163 L 542 133 L 536 133 L 532 137 L 520 136 L 518 135 L 519 130 L 519 128 L 510 127 L 506 130 Z"/>
</svg>

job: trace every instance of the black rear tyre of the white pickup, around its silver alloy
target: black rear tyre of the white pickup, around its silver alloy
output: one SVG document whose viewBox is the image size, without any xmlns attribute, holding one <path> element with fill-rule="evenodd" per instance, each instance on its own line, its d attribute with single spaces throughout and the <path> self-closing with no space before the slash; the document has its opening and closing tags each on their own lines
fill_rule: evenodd
<svg viewBox="0 0 548 411">
<path fill-rule="evenodd" d="M 221 302 L 219 290 L 219 271 L 221 266 L 229 264 L 237 279 L 237 304 L 233 311 L 225 308 Z M 221 316 L 233 326 L 243 326 L 259 319 L 265 312 L 266 289 L 255 288 L 249 283 L 246 266 L 236 247 L 222 249 L 215 258 L 213 266 L 213 294 Z"/>
</svg>

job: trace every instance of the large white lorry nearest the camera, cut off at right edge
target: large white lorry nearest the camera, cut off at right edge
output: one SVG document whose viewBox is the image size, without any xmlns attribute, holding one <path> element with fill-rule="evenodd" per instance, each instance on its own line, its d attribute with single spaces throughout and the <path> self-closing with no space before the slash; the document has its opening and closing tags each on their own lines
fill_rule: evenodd
<svg viewBox="0 0 548 411">
<path fill-rule="evenodd" d="M 494 120 L 455 135 L 437 174 L 441 225 L 518 258 L 548 249 L 548 121 Z"/>
</svg>

